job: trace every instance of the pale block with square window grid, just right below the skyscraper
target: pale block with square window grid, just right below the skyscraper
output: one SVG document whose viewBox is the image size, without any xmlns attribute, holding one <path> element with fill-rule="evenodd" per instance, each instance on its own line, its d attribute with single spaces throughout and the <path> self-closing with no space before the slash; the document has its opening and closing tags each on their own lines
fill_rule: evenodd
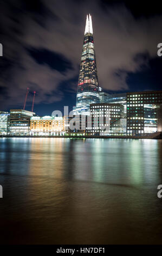
<svg viewBox="0 0 162 256">
<path fill-rule="evenodd" d="M 122 106 L 121 104 L 91 104 L 90 117 L 90 122 L 87 121 L 88 135 L 107 136 L 126 134 L 126 119 L 124 120 L 124 106 Z"/>
</svg>

